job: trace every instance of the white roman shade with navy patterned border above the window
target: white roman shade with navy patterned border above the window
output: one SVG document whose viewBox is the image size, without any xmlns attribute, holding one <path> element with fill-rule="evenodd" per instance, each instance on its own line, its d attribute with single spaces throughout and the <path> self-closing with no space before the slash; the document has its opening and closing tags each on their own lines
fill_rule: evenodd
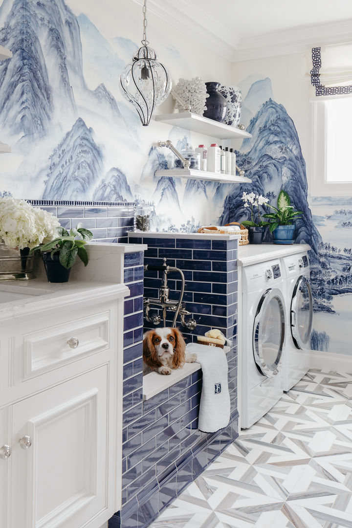
<svg viewBox="0 0 352 528">
<path fill-rule="evenodd" d="M 316 97 L 352 94 L 352 43 L 312 48 L 311 59 Z"/>
</svg>

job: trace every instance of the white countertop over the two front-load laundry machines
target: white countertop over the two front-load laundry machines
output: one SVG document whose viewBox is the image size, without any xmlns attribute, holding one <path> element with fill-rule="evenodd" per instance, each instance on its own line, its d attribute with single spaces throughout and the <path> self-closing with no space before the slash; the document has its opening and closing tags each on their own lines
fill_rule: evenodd
<svg viewBox="0 0 352 528">
<path fill-rule="evenodd" d="M 239 246 L 237 265 L 250 266 L 265 260 L 304 253 L 309 249 L 311 248 L 308 244 L 248 244 L 247 246 Z"/>
</svg>

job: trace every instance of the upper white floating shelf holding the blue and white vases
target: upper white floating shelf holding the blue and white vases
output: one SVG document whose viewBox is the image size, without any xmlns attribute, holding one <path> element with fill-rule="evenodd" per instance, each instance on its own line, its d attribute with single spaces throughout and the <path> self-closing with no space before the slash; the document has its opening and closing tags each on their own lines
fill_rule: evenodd
<svg viewBox="0 0 352 528">
<path fill-rule="evenodd" d="M 251 134 L 237 127 L 218 123 L 213 119 L 192 114 L 192 112 L 178 112 L 163 116 L 155 116 L 156 121 L 161 121 L 174 127 L 186 128 L 206 136 L 218 137 L 220 139 L 244 139 L 252 137 Z"/>
</svg>

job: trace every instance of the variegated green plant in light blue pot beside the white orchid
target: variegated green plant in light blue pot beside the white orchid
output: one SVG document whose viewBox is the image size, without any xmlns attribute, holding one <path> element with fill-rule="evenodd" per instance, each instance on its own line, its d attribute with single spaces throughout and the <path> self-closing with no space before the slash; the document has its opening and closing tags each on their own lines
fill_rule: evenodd
<svg viewBox="0 0 352 528">
<path fill-rule="evenodd" d="M 281 189 L 278 196 L 278 207 L 267 204 L 274 209 L 274 213 L 263 214 L 264 218 L 271 220 L 269 229 L 273 234 L 274 244 L 293 244 L 294 220 L 298 218 L 303 211 L 294 211 L 291 205 L 290 196 L 286 191 Z"/>
</svg>

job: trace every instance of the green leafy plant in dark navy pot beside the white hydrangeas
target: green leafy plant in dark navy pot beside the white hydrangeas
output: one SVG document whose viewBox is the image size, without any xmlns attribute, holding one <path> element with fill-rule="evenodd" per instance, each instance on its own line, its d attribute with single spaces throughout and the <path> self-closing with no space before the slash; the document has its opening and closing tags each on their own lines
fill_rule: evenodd
<svg viewBox="0 0 352 528">
<path fill-rule="evenodd" d="M 42 252 L 42 259 L 48 282 L 67 282 L 70 277 L 71 268 L 79 257 L 84 266 L 88 264 L 88 253 L 85 244 L 92 240 L 93 233 L 78 224 L 76 229 L 56 228 L 58 236 L 44 246 L 36 246 L 35 250 Z"/>
</svg>

